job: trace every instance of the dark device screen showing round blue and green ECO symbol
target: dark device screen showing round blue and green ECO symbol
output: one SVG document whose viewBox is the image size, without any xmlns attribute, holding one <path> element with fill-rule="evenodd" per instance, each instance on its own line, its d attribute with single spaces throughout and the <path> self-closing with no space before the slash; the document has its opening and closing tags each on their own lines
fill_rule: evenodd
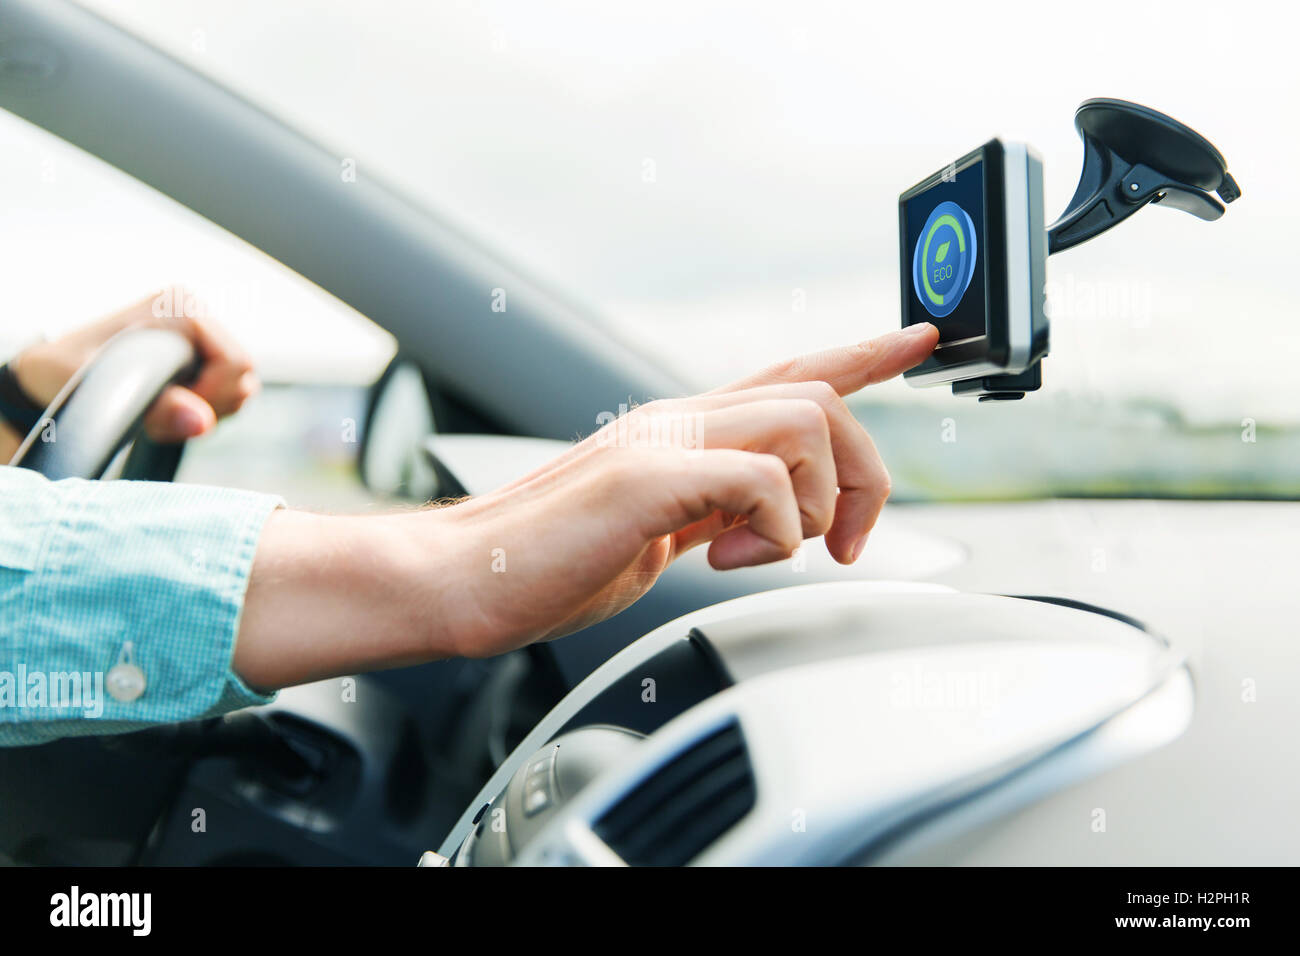
<svg viewBox="0 0 1300 956">
<path fill-rule="evenodd" d="M 984 160 L 905 200 L 904 222 L 911 264 L 906 324 L 933 323 L 940 342 L 985 334 Z"/>
</svg>

